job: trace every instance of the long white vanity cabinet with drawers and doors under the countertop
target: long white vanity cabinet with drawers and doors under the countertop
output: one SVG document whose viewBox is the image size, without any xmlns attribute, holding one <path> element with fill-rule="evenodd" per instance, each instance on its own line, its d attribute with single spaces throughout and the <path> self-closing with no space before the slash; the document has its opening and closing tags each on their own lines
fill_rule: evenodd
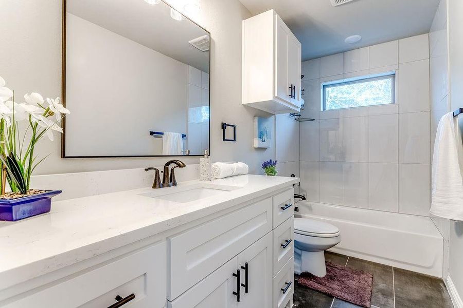
<svg viewBox="0 0 463 308">
<path fill-rule="evenodd" d="M 0 307 L 292 307 L 291 184 L 11 284 Z"/>
</svg>

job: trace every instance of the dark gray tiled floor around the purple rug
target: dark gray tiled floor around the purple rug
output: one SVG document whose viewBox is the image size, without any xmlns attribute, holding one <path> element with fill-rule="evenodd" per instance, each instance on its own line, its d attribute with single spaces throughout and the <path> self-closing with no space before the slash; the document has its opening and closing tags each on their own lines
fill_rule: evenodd
<svg viewBox="0 0 463 308">
<path fill-rule="evenodd" d="M 325 259 L 373 274 L 371 308 L 453 308 L 447 288 L 441 279 L 330 252 L 325 253 Z M 294 307 L 358 308 L 359 306 L 296 283 Z"/>
</svg>

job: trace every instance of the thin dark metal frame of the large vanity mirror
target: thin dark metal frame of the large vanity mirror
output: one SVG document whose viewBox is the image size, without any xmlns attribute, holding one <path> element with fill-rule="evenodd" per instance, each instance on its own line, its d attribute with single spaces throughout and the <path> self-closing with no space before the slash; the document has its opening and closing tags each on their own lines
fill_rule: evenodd
<svg viewBox="0 0 463 308">
<path fill-rule="evenodd" d="M 162 0 L 162 3 L 165 5 L 170 6 L 168 3 L 166 3 L 164 0 Z M 64 107 L 66 107 L 66 4 L 67 0 L 63 0 L 62 3 L 62 53 L 61 53 L 61 102 Z M 182 14 L 182 13 L 181 13 Z M 183 14 L 182 14 L 183 15 Z M 209 34 L 209 38 L 211 37 L 210 32 L 197 23 L 193 22 L 188 16 L 185 16 L 186 20 L 192 22 L 193 24 L 197 25 L 201 29 L 207 32 Z M 212 40 L 210 39 L 210 44 L 209 44 L 209 155 L 211 153 L 210 151 L 210 59 L 211 59 L 211 53 L 212 53 Z M 185 63 L 186 64 L 186 63 Z M 108 155 L 108 156 L 69 156 L 66 155 L 66 117 L 63 118 L 62 120 L 62 128 L 63 128 L 63 133 L 61 134 L 61 158 L 117 158 L 117 157 L 202 157 L 204 154 L 198 154 L 198 155 L 179 155 L 179 156 L 168 156 L 168 155 Z"/>
</svg>

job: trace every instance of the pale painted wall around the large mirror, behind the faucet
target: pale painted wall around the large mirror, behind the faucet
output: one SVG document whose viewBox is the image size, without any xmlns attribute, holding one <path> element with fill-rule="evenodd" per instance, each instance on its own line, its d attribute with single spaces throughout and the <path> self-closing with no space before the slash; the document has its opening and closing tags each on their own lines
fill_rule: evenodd
<svg viewBox="0 0 463 308">
<path fill-rule="evenodd" d="M 2 2 L 0 75 L 22 98 L 26 92 L 56 97 L 61 93 L 61 0 Z M 202 0 L 194 22 L 211 32 L 211 156 L 214 161 L 243 161 L 251 172 L 274 158 L 271 149 L 254 149 L 254 115 L 268 115 L 241 105 L 241 22 L 251 13 L 238 1 Z M 222 141 L 221 122 L 237 125 L 237 142 Z M 167 158 L 61 159 L 60 142 L 44 141 L 40 156 L 51 155 L 37 174 L 140 168 Z M 198 158 L 183 158 L 186 164 Z M 179 179 L 180 180 L 180 179 Z"/>
</svg>

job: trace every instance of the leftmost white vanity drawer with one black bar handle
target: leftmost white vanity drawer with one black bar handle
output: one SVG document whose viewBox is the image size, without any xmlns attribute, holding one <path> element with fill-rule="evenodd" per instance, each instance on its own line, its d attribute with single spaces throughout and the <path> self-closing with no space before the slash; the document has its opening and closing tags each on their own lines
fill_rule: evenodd
<svg viewBox="0 0 463 308">
<path fill-rule="evenodd" d="M 116 296 L 134 298 L 123 307 L 166 304 L 166 243 L 157 244 L 84 274 L 44 288 L 4 308 L 105 308 Z M 1 304 L 0 304 L 1 305 Z"/>
</svg>

